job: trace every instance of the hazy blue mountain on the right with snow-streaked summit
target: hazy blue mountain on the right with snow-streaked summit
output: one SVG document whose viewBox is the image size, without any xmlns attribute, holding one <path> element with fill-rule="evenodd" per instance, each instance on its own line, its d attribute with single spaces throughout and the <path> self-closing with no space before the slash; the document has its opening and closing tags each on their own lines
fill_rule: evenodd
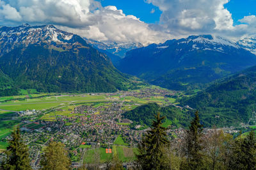
<svg viewBox="0 0 256 170">
<path fill-rule="evenodd" d="M 253 65 L 255 54 L 240 43 L 201 35 L 131 50 L 116 67 L 164 88 L 188 89 Z"/>
</svg>

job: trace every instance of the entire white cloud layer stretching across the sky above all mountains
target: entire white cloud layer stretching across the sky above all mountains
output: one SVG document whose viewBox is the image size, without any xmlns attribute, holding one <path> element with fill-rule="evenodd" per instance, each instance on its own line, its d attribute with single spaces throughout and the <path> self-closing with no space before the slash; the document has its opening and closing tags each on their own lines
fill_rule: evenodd
<svg viewBox="0 0 256 170">
<path fill-rule="evenodd" d="M 0 25 L 54 24 L 86 38 L 144 45 L 188 35 L 240 38 L 256 33 L 255 15 L 244 16 L 241 24 L 234 26 L 232 13 L 224 7 L 229 0 L 144 1 L 163 12 L 159 24 L 147 24 L 116 6 L 102 7 L 95 0 L 0 0 Z"/>
</svg>

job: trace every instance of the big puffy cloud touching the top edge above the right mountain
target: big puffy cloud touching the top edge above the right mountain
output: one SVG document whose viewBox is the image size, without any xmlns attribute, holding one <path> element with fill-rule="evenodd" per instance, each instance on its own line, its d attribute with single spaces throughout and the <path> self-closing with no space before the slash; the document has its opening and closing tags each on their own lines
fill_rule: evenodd
<svg viewBox="0 0 256 170">
<path fill-rule="evenodd" d="M 161 23 L 176 34 L 234 29 L 228 0 L 147 0 L 163 11 Z"/>
</svg>

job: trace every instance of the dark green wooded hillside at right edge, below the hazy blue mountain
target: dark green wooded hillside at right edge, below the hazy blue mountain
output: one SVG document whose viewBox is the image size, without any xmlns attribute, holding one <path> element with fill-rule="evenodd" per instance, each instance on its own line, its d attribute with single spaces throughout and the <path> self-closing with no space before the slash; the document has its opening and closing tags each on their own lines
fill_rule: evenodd
<svg viewBox="0 0 256 170">
<path fill-rule="evenodd" d="M 198 109 L 208 126 L 252 123 L 256 111 L 256 66 L 216 82 L 180 104 Z"/>
</svg>

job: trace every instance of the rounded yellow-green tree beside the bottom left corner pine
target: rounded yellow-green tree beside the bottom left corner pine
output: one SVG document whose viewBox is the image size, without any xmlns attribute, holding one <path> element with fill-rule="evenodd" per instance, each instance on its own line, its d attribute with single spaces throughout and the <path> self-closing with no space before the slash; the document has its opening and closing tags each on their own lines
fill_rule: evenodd
<svg viewBox="0 0 256 170">
<path fill-rule="evenodd" d="M 71 161 L 64 144 L 54 141 L 49 143 L 40 164 L 43 170 L 70 169 Z"/>
</svg>

